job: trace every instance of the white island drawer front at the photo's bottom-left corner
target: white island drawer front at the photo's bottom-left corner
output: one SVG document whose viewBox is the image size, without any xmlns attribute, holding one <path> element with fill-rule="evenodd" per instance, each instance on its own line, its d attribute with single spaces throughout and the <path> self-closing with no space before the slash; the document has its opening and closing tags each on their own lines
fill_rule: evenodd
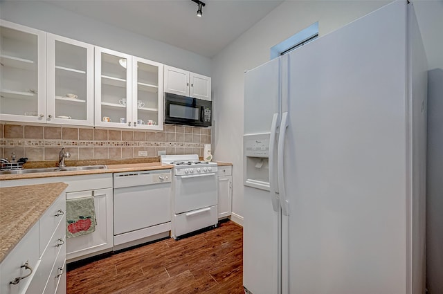
<svg viewBox="0 0 443 294">
<path fill-rule="evenodd" d="M 6 255 L 0 264 L 0 293 L 13 294 L 24 293 L 30 281 L 35 275 L 35 270 L 39 263 L 39 248 L 35 246 L 39 242 L 39 224 L 36 223 L 29 232 L 19 241 L 19 243 Z M 28 265 L 33 269 L 33 273 L 19 284 L 9 284 L 16 277 L 24 277 L 30 273 L 30 270 L 21 268 L 28 261 Z"/>
</svg>

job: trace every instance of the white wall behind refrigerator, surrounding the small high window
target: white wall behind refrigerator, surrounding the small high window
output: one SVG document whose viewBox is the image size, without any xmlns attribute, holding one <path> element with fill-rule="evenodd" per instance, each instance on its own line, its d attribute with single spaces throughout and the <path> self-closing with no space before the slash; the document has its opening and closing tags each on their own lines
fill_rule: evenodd
<svg viewBox="0 0 443 294">
<path fill-rule="evenodd" d="M 242 136 L 244 71 L 269 60 L 270 48 L 319 22 L 319 35 L 389 1 L 285 1 L 213 58 L 213 154 L 233 163 L 233 219 L 243 215 Z"/>
</svg>

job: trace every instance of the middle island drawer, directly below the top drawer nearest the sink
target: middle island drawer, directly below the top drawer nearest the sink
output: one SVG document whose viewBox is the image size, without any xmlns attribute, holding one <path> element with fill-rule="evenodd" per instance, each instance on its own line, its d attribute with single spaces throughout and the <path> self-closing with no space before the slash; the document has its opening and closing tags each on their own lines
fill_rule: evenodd
<svg viewBox="0 0 443 294">
<path fill-rule="evenodd" d="M 57 226 L 57 230 L 55 230 L 51 241 L 43 252 L 39 268 L 27 293 L 43 293 L 45 285 L 50 282 L 49 274 L 53 270 L 55 259 L 59 255 L 65 255 L 66 226 L 64 217 L 63 215 L 62 221 Z"/>
</svg>

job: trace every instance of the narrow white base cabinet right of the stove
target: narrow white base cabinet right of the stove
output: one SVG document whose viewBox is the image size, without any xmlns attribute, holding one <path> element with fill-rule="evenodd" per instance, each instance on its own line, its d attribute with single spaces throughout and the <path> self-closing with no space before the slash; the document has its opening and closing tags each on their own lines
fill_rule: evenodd
<svg viewBox="0 0 443 294">
<path fill-rule="evenodd" d="M 218 167 L 218 217 L 229 217 L 232 213 L 233 176 L 232 166 Z"/>
</svg>

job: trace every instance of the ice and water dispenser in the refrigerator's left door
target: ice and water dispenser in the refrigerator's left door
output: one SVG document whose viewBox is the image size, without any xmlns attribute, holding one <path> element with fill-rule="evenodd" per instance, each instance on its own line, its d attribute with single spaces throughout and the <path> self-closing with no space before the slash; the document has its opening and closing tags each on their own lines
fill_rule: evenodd
<svg viewBox="0 0 443 294">
<path fill-rule="evenodd" d="M 269 133 L 243 136 L 244 185 L 269 191 Z"/>
</svg>

